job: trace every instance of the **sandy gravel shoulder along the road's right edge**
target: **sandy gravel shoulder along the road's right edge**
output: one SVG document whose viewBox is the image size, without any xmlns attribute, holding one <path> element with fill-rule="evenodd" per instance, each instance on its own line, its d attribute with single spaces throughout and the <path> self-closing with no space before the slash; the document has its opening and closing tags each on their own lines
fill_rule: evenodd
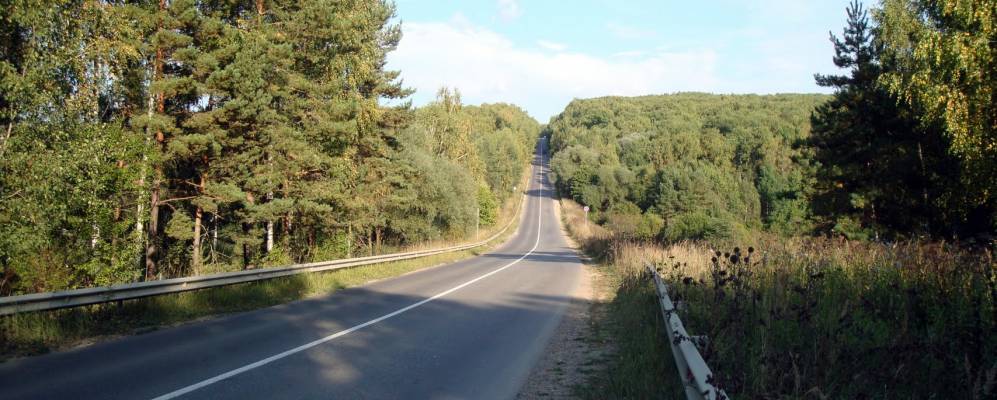
<svg viewBox="0 0 997 400">
<path fill-rule="evenodd" d="M 557 220 L 561 221 L 559 203 L 554 204 Z M 561 232 L 581 254 L 563 223 Z M 598 306 L 607 301 L 611 291 L 600 284 L 603 280 L 596 268 L 588 258 L 583 257 L 582 282 L 574 294 L 574 300 L 565 310 L 561 324 L 547 344 L 544 355 L 530 372 L 518 399 L 577 398 L 582 395 L 579 390 L 586 386 L 589 379 L 605 368 L 603 361 L 611 352 L 611 346 L 594 329 L 593 312 L 598 312 Z"/>
</svg>

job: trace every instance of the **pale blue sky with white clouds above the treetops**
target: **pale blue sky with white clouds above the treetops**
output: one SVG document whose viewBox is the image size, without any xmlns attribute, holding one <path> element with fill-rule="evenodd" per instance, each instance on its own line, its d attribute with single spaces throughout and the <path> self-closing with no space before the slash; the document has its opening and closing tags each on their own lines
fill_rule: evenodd
<svg viewBox="0 0 997 400">
<path fill-rule="evenodd" d="M 447 86 L 544 123 L 575 98 L 828 93 L 849 1 L 395 0 L 388 69 L 417 106 Z"/>
</svg>

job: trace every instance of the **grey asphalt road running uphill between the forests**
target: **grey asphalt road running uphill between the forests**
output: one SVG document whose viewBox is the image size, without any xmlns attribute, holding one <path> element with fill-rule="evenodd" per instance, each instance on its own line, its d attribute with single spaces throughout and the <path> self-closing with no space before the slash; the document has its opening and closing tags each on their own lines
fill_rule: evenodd
<svg viewBox="0 0 997 400">
<path fill-rule="evenodd" d="M 0 364 L 0 399 L 507 399 L 581 279 L 534 160 L 495 251 L 266 309 Z"/>
</svg>

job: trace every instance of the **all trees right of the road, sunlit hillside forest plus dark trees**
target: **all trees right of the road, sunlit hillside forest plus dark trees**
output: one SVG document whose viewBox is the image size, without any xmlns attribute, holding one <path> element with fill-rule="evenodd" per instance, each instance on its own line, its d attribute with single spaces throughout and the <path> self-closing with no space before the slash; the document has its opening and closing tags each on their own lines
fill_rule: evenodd
<svg viewBox="0 0 997 400">
<path fill-rule="evenodd" d="M 997 233 L 992 1 L 847 9 L 824 95 L 576 100 L 548 126 L 561 193 L 644 240 L 752 231 L 853 239 Z"/>
</svg>

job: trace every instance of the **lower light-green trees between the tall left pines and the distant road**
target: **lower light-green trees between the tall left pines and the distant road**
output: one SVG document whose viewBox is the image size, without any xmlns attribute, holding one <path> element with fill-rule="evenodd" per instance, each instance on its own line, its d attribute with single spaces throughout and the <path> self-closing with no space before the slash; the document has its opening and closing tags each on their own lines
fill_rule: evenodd
<svg viewBox="0 0 997 400">
<path fill-rule="evenodd" d="M 409 240 L 467 234 L 478 210 L 482 226 L 493 224 L 499 202 L 511 197 L 533 154 L 540 126 L 526 112 L 459 101 L 456 90 L 441 90 L 398 133 L 401 159 L 413 174 L 402 187 L 415 196 L 394 202 L 407 210 L 398 212 L 394 223 Z"/>
</svg>

